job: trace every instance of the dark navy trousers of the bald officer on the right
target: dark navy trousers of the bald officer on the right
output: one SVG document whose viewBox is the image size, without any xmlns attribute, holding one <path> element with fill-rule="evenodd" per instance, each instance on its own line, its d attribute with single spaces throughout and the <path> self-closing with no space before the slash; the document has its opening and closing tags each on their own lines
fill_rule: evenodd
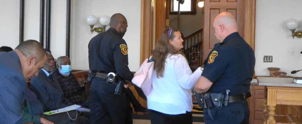
<svg viewBox="0 0 302 124">
<path fill-rule="evenodd" d="M 204 109 L 205 124 L 249 124 L 249 105 L 247 101 L 230 103 L 227 107 L 221 109 L 210 108 L 211 115 L 208 110 Z"/>
</svg>

